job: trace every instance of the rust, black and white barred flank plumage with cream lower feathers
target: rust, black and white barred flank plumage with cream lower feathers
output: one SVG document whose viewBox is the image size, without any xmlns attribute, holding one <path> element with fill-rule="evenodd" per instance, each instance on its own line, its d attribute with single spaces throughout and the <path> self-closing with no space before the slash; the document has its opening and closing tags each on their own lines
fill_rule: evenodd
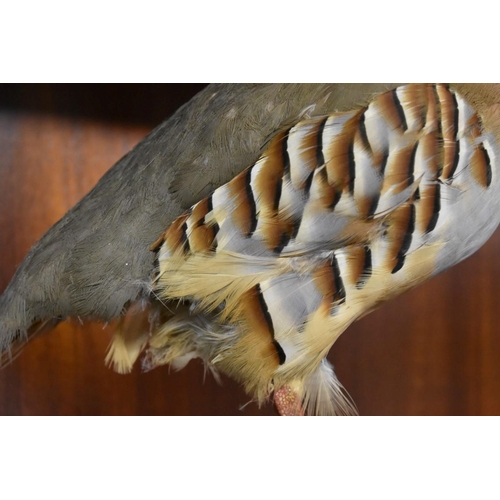
<svg viewBox="0 0 500 500">
<path fill-rule="evenodd" d="M 162 300 L 231 332 L 209 356 L 185 339 L 179 356 L 202 357 L 259 401 L 288 385 L 310 413 L 355 413 L 326 354 L 357 318 L 447 267 L 447 234 L 467 193 L 496 181 L 495 151 L 445 85 L 398 87 L 277 133 L 152 247 Z M 160 344 L 172 353 L 166 325 Z"/>
</svg>

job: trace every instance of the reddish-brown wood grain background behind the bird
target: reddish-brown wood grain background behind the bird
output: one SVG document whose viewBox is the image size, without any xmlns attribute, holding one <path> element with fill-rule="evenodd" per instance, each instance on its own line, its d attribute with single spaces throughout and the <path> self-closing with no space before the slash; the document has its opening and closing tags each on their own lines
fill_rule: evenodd
<svg viewBox="0 0 500 500">
<path fill-rule="evenodd" d="M 101 175 L 203 85 L 0 85 L 0 289 Z M 500 414 L 500 233 L 349 328 L 330 358 L 361 415 Z M 275 415 L 200 363 L 117 375 L 112 327 L 64 323 L 0 371 L 3 415 Z"/>
</svg>

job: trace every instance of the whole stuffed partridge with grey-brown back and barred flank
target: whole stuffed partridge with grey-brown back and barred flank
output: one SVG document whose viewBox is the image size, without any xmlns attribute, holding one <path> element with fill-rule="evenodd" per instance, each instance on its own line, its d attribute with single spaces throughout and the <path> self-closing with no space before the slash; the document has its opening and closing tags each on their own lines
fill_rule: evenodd
<svg viewBox="0 0 500 500">
<path fill-rule="evenodd" d="M 30 251 L 3 361 L 68 317 L 120 317 L 120 373 L 201 358 L 282 415 L 355 414 L 329 350 L 490 237 L 499 139 L 497 85 L 209 86 Z"/>
</svg>

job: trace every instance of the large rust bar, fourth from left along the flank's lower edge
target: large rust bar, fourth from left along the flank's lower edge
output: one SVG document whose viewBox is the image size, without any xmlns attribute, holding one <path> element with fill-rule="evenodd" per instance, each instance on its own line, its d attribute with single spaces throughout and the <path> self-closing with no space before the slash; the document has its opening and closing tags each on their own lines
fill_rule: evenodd
<svg viewBox="0 0 500 500">
<path fill-rule="evenodd" d="M 397 273 L 404 265 L 406 253 L 411 245 L 413 231 L 415 230 L 415 206 L 413 203 L 397 208 L 388 228 L 390 245 L 391 273 Z"/>
</svg>

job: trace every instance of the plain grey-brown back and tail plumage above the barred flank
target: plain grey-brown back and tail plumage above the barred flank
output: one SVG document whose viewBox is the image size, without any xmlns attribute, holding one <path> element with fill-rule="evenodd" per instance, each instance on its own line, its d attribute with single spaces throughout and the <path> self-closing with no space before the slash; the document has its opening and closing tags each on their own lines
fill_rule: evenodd
<svg viewBox="0 0 500 500">
<path fill-rule="evenodd" d="M 0 350 L 34 323 L 110 321 L 149 300 L 149 246 L 254 162 L 276 129 L 349 109 L 386 84 L 213 84 L 153 130 L 38 241 L 0 296 Z"/>
</svg>

